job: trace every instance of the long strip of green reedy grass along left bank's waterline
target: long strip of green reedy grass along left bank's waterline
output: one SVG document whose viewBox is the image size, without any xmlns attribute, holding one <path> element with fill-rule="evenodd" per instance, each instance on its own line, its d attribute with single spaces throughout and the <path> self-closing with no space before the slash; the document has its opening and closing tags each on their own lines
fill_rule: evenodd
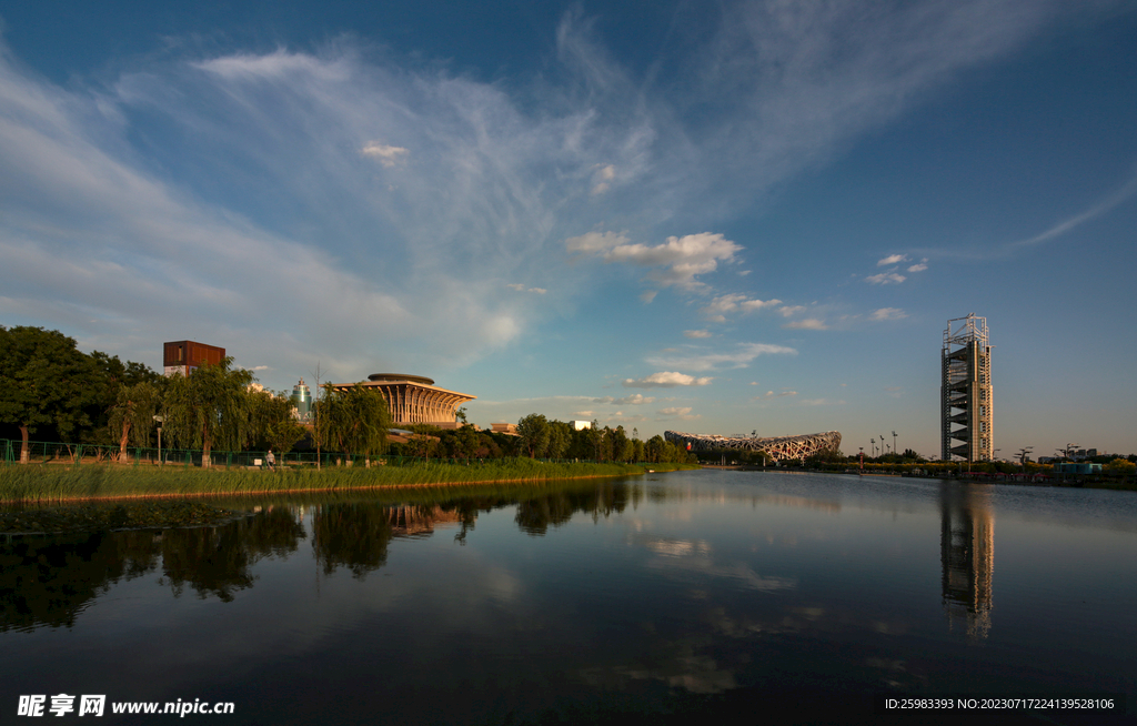
<svg viewBox="0 0 1137 726">
<path fill-rule="evenodd" d="M 155 470 L 114 464 L 82 467 L 7 466 L 0 468 L 0 503 L 463 486 L 638 476 L 649 469 L 667 472 L 677 468 L 688 467 L 674 464 L 545 462 L 524 458 L 471 462 L 468 466 L 431 462 L 405 467 L 327 467 L 319 470 L 305 468 L 276 472 L 182 467 Z"/>
</svg>

